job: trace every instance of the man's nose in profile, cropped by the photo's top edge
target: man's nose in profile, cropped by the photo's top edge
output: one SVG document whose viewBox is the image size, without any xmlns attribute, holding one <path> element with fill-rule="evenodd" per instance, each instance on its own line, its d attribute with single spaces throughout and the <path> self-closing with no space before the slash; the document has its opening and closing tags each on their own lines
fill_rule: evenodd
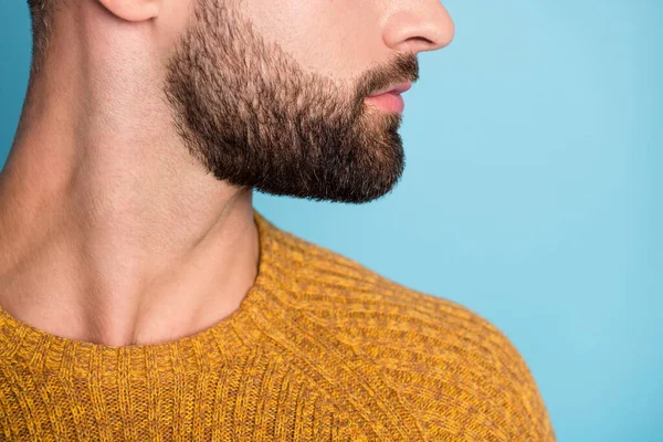
<svg viewBox="0 0 663 442">
<path fill-rule="evenodd" d="M 413 3 L 415 7 L 394 13 L 387 22 L 387 45 L 419 53 L 435 51 L 450 44 L 455 25 L 446 8 L 439 0 Z"/>
</svg>

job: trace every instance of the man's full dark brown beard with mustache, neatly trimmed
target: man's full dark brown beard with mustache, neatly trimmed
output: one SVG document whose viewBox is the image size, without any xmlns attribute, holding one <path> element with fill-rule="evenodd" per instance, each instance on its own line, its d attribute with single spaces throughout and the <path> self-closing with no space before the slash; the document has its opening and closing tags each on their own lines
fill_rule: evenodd
<svg viewBox="0 0 663 442">
<path fill-rule="evenodd" d="M 397 53 L 389 64 L 336 83 L 266 42 L 236 1 L 194 0 L 164 92 L 183 144 L 219 180 L 360 203 L 391 191 L 404 168 L 401 115 L 365 98 L 418 77 L 415 55 Z"/>
</svg>

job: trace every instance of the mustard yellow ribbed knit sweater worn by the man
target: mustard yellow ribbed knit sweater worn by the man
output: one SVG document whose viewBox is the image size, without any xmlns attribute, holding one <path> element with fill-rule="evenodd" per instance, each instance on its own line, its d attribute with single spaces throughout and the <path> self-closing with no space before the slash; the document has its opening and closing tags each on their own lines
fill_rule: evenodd
<svg viewBox="0 0 663 442">
<path fill-rule="evenodd" d="M 196 335 L 112 347 L 0 309 L 0 440 L 555 440 L 490 323 L 254 217 L 255 284 Z"/>
</svg>

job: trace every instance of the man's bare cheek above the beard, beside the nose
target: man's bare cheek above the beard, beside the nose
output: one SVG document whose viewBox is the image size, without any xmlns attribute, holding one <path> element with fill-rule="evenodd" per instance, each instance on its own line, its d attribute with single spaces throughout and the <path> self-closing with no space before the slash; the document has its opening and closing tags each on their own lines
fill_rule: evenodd
<svg viewBox="0 0 663 442">
<path fill-rule="evenodd" d="M 242 12 L 265 42 L 330 78 L 361 74 L 386 52 L 373 0 L 246 0 Z"/>
</svg>

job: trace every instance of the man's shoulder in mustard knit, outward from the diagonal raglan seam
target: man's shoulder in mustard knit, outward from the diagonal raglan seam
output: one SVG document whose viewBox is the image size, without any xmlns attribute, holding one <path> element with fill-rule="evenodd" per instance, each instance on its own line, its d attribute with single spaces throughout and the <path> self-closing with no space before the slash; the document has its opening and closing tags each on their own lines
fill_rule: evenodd
<svg viewBox="0 0 663 442">
<path fill-rule="evenodd" d="M 398 392 L 429 438 L 555 440 L 527 364 L 492 323 L 285 235 L 297 251 L 298 308 L 360 355 L 364 370 Z"/>
</svg>

